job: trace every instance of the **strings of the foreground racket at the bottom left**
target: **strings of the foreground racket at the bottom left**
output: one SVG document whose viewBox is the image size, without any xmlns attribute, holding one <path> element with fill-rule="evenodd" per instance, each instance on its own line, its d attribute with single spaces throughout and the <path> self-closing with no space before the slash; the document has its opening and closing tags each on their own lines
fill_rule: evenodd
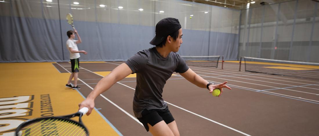
<svg viewBox="0 0 319 136">
<path fill-rule="evenodd" d="M 85 129 L 77 123 L 64 119 L 46 119 L 34 122 L 22 129 L 21 136 L 59 135 L 59 136 L 86 136 Z"/>
</svg>

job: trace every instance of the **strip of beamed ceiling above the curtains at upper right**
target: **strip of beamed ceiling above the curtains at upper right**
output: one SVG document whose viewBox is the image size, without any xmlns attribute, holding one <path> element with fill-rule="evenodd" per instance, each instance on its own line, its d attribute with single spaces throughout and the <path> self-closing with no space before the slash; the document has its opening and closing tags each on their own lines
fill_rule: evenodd
<svg viewBox="0 0 319 136">
<path fill-rule="evenodd" d="M 242 10 L 247 7 L 247 3 L 250 3 L 249 7 L 252 8 L 252 7 L 262 6 L 265 4 L 281 3 L 281 2 L 291 1 L 291 0 L 184 0 L 184 1 L 204 3 L 204 4 L 219 6 L 219 7 Z"/>
</svg>

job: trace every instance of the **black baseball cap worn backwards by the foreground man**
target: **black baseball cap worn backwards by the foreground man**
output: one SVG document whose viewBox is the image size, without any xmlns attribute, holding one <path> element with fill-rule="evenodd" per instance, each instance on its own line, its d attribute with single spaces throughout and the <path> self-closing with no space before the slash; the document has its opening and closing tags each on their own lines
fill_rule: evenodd
<svg viewBox="0 0 319 136">
<path fill-rule="evenodd" d="M 155 37 L 152 39 L 150 44 L 158 45 L 160 44 L 166 37 L 181 29 L 182 26 L 176 18 L 164 18 L 160 20 L 155 27 Z"/>
</svg>

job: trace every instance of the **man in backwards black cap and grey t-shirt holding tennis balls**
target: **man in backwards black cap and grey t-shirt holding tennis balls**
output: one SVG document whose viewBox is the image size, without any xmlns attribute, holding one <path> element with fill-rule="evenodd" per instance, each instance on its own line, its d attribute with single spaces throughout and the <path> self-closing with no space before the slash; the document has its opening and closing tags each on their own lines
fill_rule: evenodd
<svg viewBox="0 0 319 136">
<path fill-rule="evenodd" d="M 176 52 L 182 41 L 182 27 L 178 19 L 164 18 L 156 24 L 156 36 L 150 44 L 155 47 L 139 51 L 125 63 L 117 66 L 110 74 L 102 78 L 79 108 L 88 107 L 89 115 L 94 108 L 94 99 L 108 90 L 117 81 L 136 73 L 136 89 L 133 99 L 135 117 L 144 125 L 146 131 L 154 136 L 179 136 L 176 122 L 162 98 L 164 85 L 173 72 L 178 72 L 189 82 L 210 93 L 219 88 L 231 89 L 227 82 L 214 85 L 192 71 Z M 219 95 L 219 96 L 220 96 Z"/>
</svg>

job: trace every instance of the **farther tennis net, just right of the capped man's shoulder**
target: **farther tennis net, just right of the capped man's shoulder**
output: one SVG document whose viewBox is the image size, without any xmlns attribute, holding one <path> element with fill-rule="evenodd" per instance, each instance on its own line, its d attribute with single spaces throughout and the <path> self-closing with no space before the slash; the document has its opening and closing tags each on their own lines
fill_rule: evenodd
<svg viewBox="0 0 319 136">
<path fill-rule="evenodd" d="M 187 65 L 202 66 L 202 67 L 218 67 L 221 60 L 223 69 L 224 56 L 182 56 Z"/>
</svg>

